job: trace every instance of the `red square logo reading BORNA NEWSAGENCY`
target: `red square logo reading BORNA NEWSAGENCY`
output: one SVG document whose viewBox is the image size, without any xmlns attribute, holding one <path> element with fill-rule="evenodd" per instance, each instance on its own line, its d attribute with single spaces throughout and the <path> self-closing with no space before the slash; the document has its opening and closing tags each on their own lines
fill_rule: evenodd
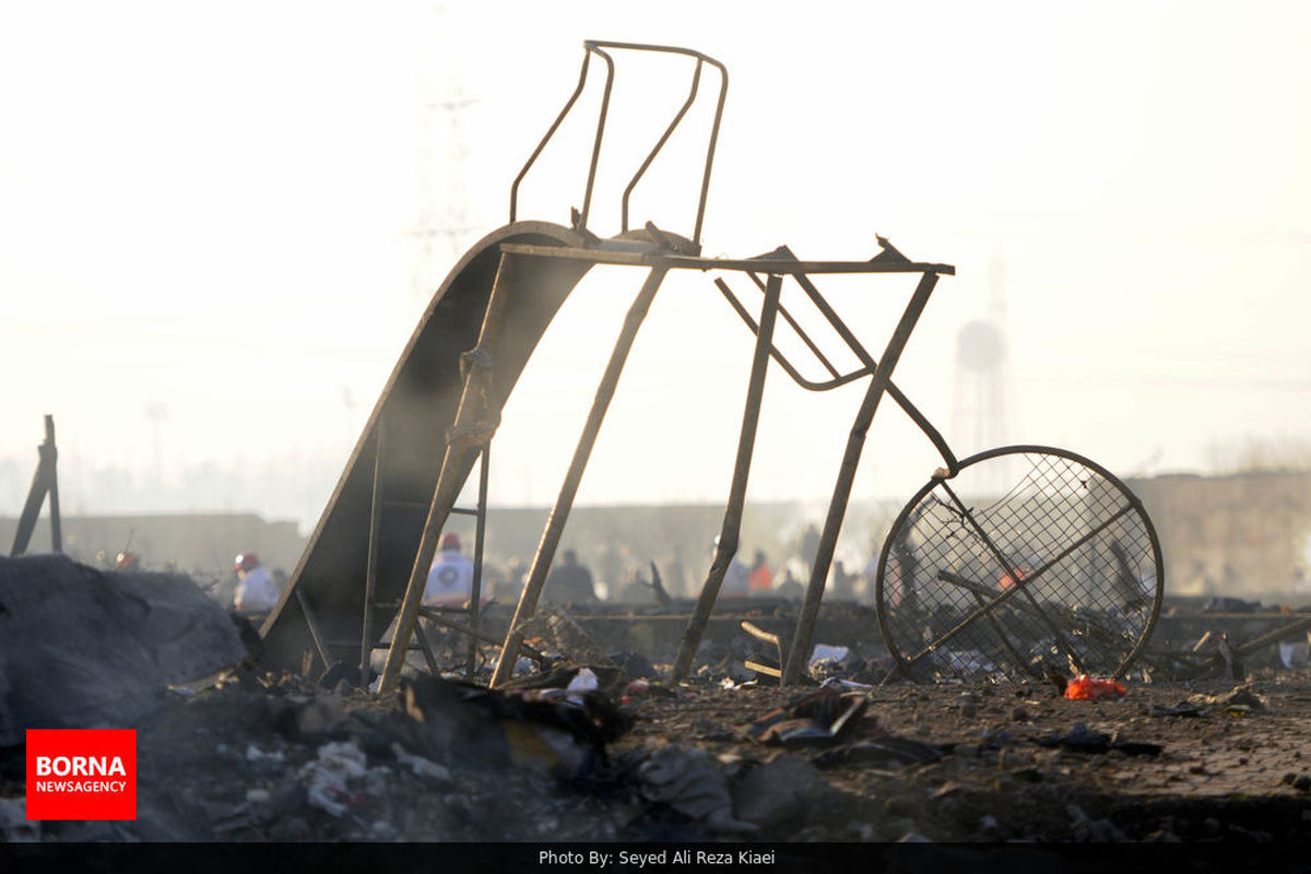
<svg viewBox="0 0 1311 874">
<path fill-rule="evenodd" d="M 136 819 L 136 731 L 28 731 L 28 819 Z"/>
</svg>

